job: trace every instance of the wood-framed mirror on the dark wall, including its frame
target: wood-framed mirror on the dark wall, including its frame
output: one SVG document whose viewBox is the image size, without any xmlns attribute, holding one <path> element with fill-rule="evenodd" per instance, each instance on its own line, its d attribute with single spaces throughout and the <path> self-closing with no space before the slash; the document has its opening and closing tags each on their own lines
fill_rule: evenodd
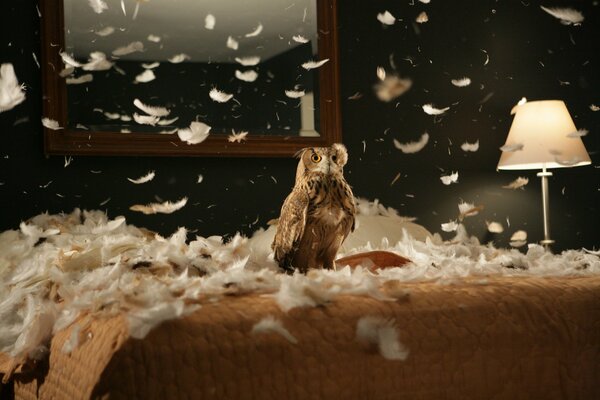
<svg viewBox="0 0 600 400">
<path fill-rule="evenodd" d="M 48 155 L 286 156 L 341 140 L 335 0 L 43 0 Z"/>
</svg>

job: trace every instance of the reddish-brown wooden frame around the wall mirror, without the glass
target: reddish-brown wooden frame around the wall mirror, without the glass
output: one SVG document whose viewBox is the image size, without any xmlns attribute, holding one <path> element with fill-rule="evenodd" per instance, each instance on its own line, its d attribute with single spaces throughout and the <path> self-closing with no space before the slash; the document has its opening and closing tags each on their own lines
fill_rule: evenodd
<svg viewBox="0 0 600 400">
<path fill-rule="evenodd" d="M 189 145 L 173 135 L 148 133 L 94 132 L 67 126 L 66 80 L 58 72 L 65 48 L 63 0 L 42 0 L 42 87 L 43 116 L 65 127 L 44 127 L 44 152 L 50 155 L 113 156 L 231 156 L 285 157 L 305 147 L 329 146 L 341 142 L 340 94 L 338 81 L 337 0 L 317 1 L 318 59 L 329 61 L 318 69 L 320 136 L 253 135 L 242 143 L 230 143 L 227 135 L 209 135 L 202 143 Z"/>
</svg>

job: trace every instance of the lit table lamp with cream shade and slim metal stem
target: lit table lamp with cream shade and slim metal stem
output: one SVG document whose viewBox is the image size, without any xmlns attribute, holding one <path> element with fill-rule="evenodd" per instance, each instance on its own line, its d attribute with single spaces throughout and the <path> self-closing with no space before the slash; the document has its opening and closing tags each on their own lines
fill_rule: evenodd
<svg viewBox="0 0 600 400">
<path fill-rule="evenodd" d="M 530 101 L 515 106 L 515 118 L 508 132 L 498 169 L 541 169 L 544 240 L 550 239 L 548 177 L 550 168 L 578 167 L 591 164 L 581 135 L 561 100 Z"/>
</svg>

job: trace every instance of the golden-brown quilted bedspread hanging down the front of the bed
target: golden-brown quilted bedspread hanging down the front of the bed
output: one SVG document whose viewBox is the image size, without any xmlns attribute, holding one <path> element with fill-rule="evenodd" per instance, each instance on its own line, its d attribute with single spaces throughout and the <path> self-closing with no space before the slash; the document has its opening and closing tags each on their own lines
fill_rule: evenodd
<svg viewBox="0 0 600 400">
<path fill-rule="evenodd" d="M 24 399 L 600 399 L 600 277 L 404 284 L 398 301 L 340 296 L 287 313 L 261 295 L 206 302 L 143 340 L 122 317 L 68 328 L 47 365 L 16 373 Z M 252 333 L 273 316 L 297 339 Z M 405 360 L 357 340 L 395 320 Z M 6 361 L 6 360 L 5 360 Z M 0 358 L 0 366 L 2 359 Z"/>
</svg>

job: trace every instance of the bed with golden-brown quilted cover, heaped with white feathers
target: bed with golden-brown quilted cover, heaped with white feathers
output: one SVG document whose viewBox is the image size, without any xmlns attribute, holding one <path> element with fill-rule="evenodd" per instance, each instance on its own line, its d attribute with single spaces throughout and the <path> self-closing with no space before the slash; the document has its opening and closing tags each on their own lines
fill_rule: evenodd
<svg viewBox="0 0 600 400">
<path fill-rule="evenodd" d="M 473 238 L 415 240 L 406 234 L 393 246 L 354 250 L 362 254 L 386 245 L 386 251 L 408 257 L 409 264 L 285 275 L 257 267 L 266 262 L 260 250 L 268 242 L 265 232 L 249 241 L 186 243 L 177 233 L 148 239 L 147 232 L 97 214 L 70 230 L 65 227 L 69 216 L 61 218 L 62 231 L 48 235 L 45 250 L 34 244 L 32 251 L 62 243 L 55 236 L 88 235 L 95 229 L 105 238 L 107 265 L 90 267 L 93 249 L 58 258 L 59 268 L 53 265 L 50 276 L 62 283 L 45 294 L 58 296 L 60 311 L 47 350 L 39 361 L 31 352 L 22 357 L 14 346 L 0 354 L 0 375 L 12 386 L 10 391 L 5 386 L 3 395 L 600 398 L 600 258 L 594 252 L 553 255 L 536 245 L 519 252 Z M 98 229 L 111 223 L 108 237 L 119 240 L 107 241 L 107 232 Z M 47 217 L 34 224 L 40 232 L 57 226 Z M 409 226 L 404 227 L 407 233 Z M 13 245 L 23 239 L 22 232 L 17 236 Z M 144 251 L 125 237 L 146 238 Z M 75 239 L 69 237 L 68 243 Z M 195 264 L 204 271 L 198 276 L 188 276 L 189 268 L 181 272 L 190 251 L 194 262 L 210 264 Z M 158 254 L 168 254 L 170 263 Z M 152 261 L 140 261 L 149 257 Z M 98 286 L 90 288 L 85 277 L 94 273 Z M 101 301 L 117 293 L 107 289 L 115 273 L 122 297 Z M 61 280 L 61 274 L 69 279 Z M 72 281 L 77 286 L 68 286 Z M 94 296 L 87 304 L 83 294 L 90 290 Z M 154 295 L 145 297 L 148 292 Z M 172 306 L 163 307 L 166 303 Z M 102 307 L 91 306 L 98 304 Z"/>
</svg>

